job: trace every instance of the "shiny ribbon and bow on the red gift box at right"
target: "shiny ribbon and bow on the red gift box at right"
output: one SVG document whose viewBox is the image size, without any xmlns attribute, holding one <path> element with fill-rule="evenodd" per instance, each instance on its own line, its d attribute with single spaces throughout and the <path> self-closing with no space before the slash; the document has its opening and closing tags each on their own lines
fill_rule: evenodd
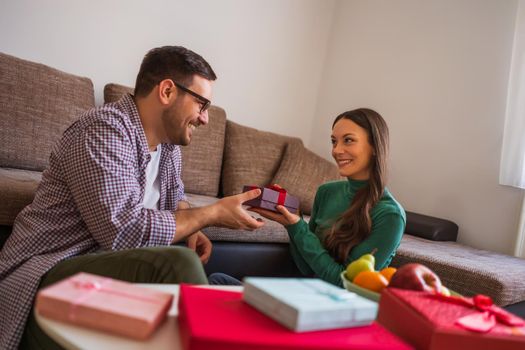
<svg viewBox="0 0 525 350">
<path fill-rule="evenodd" d="M 497 308 L 492 302 L 492 299 L 486 295 L 478 294 L 472 299 L 446 296 L 441 293 L 436 293 L 432 296 L 439 300 L 477 309 L 478 312 L 460 317 L 455 321 L 458 326 L 469 331 L 486 333 L 494 328 L 496 322 L 511 327 L 523 326 L 525 324 L 525 321 L 521 318 Z"/>
</svg>

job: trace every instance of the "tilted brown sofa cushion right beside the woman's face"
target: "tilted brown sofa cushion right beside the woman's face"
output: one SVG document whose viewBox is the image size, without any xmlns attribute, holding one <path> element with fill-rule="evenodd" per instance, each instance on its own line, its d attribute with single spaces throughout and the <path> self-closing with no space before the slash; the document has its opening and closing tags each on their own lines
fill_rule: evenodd
<svg viewBox="0 0 525 350">
<path fill-rule="evenodd" d="M 301 212 L 310 214 L 317 188 L 325 182 L 341 179 L 334 163 L 306 149 L 300 142 L 291 142 L 272 182 L 299 197 Z"/>
</svg>

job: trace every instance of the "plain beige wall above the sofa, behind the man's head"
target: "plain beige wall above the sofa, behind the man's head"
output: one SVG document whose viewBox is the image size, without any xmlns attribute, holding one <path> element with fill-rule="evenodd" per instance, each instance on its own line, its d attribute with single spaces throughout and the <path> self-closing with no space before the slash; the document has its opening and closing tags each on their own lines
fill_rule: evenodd
<svg viewBox="0 0 525 350">
<path fill-rule="evenodd" d="M 0 1 L 0 51 L 133 85 L 144 53 L 183 45 L 219 79 L 214 103 L 245 125 L 308 140 L 334 0 Z"/>
</svg>

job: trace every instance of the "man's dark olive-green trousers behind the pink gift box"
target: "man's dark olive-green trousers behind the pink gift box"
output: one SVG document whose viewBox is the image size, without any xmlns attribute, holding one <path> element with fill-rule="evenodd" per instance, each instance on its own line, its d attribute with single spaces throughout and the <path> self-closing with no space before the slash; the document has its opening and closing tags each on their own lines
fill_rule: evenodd
<svg viewBox="0 0 525 350">
<path fill-rule="evenodd" d="M 207 284 L 197 254 L 180 247 L 155 247 L 89 254 L 62 261 L 42 277 L 39 288 L 89 272 L 134 283 Z M 38 326 L 33 310 L 28 318 L 20 349 L 62 349 Z"/>
</svg>

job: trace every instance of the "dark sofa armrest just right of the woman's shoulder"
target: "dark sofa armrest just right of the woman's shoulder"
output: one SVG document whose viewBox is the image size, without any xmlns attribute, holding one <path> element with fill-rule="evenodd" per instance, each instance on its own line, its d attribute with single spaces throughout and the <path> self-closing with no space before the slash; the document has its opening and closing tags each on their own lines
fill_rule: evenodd
<svg viewBox="0 0 525 350">
<path fill-rule="evenodd" d="M 454 222 L 407 211 L 405 233 L 431 241 L 456 241 L 458 225 Z"/>
</svg>

